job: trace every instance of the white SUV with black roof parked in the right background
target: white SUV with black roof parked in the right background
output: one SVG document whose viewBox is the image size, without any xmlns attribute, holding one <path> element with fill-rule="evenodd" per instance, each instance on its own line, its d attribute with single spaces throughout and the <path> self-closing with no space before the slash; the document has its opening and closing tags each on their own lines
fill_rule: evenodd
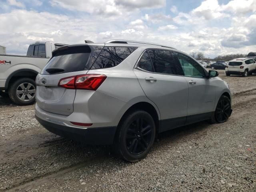
<svg viewBox="0 0 256 192">
<path fill-rule="evenodd" d="M 256 63 L 252 58 L 237 58 L 231 60 L 225 70 L 226 76 L 242 75 L 247 77 L 248 74 L 256 73 Z"/>
</svg>

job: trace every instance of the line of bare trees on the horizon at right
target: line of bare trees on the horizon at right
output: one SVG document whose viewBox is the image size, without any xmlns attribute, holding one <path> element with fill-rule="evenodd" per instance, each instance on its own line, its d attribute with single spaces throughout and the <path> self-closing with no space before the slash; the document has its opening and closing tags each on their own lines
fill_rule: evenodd
<svg viewBox="0 0 256 192">
<path fill-rule="evenodd" d="M 230 61 L 235 58 L 247 57 L 247 54 L 228 54 L 218 55 L 215 58 L 206 58 L 202 52 L 192 52 L 190 56 L 192 56 L 196 60 Z"/>
</svg>

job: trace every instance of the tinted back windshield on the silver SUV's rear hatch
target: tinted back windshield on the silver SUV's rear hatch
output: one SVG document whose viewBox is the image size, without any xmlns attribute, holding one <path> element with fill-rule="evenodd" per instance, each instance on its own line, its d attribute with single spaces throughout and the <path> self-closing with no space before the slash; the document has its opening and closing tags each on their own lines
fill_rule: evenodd
<svg viewBox="0 0 256 192">
<path fill-rule="evenodd" d="M 68 73 L 82 71 L 90 56 L 91 48 L 89 46 L 70 47 L 66 50 L 60 50 L 46 64 L 41 74 L 50 74 L 46 71 L 49 68 L 62 69 L 59 73 Z M 54 73 L 56 74 L 56 73 Z"/>
</svg>

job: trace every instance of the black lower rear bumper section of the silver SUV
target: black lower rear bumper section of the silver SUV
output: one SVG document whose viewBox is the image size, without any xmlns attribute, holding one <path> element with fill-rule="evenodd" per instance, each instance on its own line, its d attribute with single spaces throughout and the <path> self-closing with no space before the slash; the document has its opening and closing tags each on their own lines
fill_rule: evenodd
<svg viewBox="0 0 256 192">
<path fill-rule="evenodd" d="M 53 122 L 43 120 L 36 115 L 35 117 L 36 120 L 38 120 L 38 122 L 48 131 L 64 138 L 70 138 L 78 142 L 93 145 L 108 145 L 113 144 L 114 141 L 114 136 L 116 133 L 116 127 L 114 126 L 99 128 L 75 128 L 55 124 Z"/>
</svg>

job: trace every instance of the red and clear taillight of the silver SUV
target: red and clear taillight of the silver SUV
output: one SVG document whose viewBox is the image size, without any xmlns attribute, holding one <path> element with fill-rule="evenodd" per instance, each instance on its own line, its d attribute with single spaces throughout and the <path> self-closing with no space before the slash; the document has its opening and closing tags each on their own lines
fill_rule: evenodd
<svg viewBox="0 0 256 192">
<path fill-rule="evenodd" d="M 58 86 L 66 89 L 97 90 L 107 78 L 103 74 L 86 74 L 62 78 Z"/>
</svg>

